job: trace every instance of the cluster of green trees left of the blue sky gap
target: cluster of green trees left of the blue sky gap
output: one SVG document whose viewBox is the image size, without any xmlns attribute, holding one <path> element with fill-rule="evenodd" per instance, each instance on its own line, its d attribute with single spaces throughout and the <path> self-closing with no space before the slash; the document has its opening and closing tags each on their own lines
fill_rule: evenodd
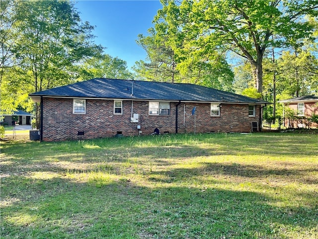
<svg viewBox="0 0 318 239">
<path fill-rule="evenodd" d="M 2 114 L 18 108 L 30 112 L 29 93 L 85 76 L 131 75 L 125 61 L 101 53 L 104 47 L 94 43 L 94 27 L 81 21 L 73 1 L 0 0 L 0 6 Z M 35 113 L 39 115 L 38 106 Z"/>
</svg>

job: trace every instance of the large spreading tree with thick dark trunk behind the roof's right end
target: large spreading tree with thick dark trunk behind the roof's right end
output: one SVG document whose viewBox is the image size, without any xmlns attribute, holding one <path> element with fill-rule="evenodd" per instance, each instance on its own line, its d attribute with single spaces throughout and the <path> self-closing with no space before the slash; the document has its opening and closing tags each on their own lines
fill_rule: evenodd
<svg viewBox="0 0 318 239">
<path fill-rule="evenodd" d="M 233 51 L 250 62 L 259 93 L 263 90 L 265 50 L 301 45 L 300 39 L 310 38 L 314 28 L 305 16 L 318 15 L 317 0 L 162 0 L 162 4 L 157 21 L 166 22 L 171 32 L 176 29 L 171 22 L 179 22 L 177 29 L 183 34 L 187 51 L 177 51 L 171 44 L 179 57 L 200 51 L 203 59 L 211 59 L 216 52 Z"/>
</svg>

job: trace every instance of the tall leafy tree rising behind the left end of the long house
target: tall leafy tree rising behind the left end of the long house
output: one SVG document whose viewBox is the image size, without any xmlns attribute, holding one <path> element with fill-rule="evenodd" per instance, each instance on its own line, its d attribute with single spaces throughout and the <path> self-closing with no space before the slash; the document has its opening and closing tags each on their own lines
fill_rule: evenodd
<svg viewBox="0 0 318 239">
<path fill-rule="evenodd" d="M 69 83 L 72 80 L 70 67 L 102 49 L 92 42 L 93 27 L 81 22 L 74 2 L 69 0 L 12 0 L 5 15 L 14 16 L 11 17 L 14 24 L 6 24 L 4 30 L 13 26 L 11 30 L 18 37 L 14 41 L 8 39 L 6 43 L 13 44 L 6 49 L 19 71 L 24 72 L 23 85 L 29 86 L 25 95 Z M 7 84 L 16 80 L 7 78 Z M 6 86 L 1 84 L 2 87 Z M 22 98 L 16 96 L 15 99 Z M 2 100 L 5 99 L 1 97 Z M 38 106 L 36 116 L 39 126 Z"/>
</svg>

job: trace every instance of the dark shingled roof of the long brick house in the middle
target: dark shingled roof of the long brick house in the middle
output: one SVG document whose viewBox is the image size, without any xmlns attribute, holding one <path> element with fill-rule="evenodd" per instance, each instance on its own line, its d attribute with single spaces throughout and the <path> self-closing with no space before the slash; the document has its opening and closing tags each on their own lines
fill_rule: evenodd
<svg viewBox="0 0 318 239">
<path fill-rule="evenodd" d="M 193 84 L 103 78 L 91 79 L 67 86 L 36 92 L 30 94 L 29 96 L 32 99 L 43 96 L 65 98 L 270 104 L 265 101 Z"/>
</svg>

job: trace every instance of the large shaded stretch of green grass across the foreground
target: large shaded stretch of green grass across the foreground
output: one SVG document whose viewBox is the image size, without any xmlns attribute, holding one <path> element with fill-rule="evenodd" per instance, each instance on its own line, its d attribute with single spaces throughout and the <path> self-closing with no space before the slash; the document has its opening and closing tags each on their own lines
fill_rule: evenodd
<svg viewBox="0 0 318 239">
<path fill-rule="evenodd" d="M 310 235 L 318 223 L 317 205 L 275 207 L 251 191 L 24 177 L 4 187 L 1 197 L 30 196 L 2 208 L 2 238 L 285 238 Z"/>
</svg>

